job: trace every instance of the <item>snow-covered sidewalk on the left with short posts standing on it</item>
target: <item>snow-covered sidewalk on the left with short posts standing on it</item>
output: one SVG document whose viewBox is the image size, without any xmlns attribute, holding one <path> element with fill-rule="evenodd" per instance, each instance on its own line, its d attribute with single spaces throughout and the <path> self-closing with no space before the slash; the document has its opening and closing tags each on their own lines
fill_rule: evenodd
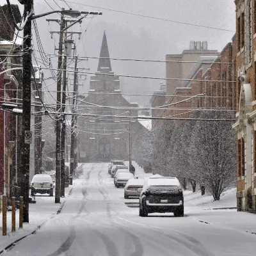
<svg viewBox="0 0 256 256">
<path fill-rule="evenodd" d="M 72 191 L 72 186 L 65 188 L 65 198 Z M 19 229 L 19 209 L 16 211 L 16 232 L 12 233 L 12 212 L 7 212 L 7 236 L 3 236 L 2 213 L 0 214 L 0 253 L 6 248 L 17 243 L 20 239 L 36 232 L 44 223 L 54 218 L 65 203 L 65 198 L 61 198 L 61 204 L 55 204 L 54 196 L 36 196 L 36 204 L 29 204 L 29 223 L 23 223 L 23 228 Z"/>
</svg>

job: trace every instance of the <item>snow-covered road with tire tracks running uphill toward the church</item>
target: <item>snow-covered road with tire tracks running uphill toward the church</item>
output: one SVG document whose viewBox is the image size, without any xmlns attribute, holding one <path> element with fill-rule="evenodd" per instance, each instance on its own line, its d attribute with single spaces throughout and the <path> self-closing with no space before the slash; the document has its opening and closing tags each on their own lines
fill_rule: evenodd
<svg viewBox="0 0 256 256">
<path fill-rule="evenodd" d="M 172 214 L 141 218 L 138 200 L 124 199 L 124 189 L 113 185 L 108 164 L 88 163 L 82 168 L 83 175 L 75 180 L 61 214 L 4 255 L 255 255 L 255 234 L 209 224 L 221 218 L 221 212 L 185 207 L 184 218 Z M 223 218 L 227 214 L 238 213 L 223 211 Z"/>
</svg>

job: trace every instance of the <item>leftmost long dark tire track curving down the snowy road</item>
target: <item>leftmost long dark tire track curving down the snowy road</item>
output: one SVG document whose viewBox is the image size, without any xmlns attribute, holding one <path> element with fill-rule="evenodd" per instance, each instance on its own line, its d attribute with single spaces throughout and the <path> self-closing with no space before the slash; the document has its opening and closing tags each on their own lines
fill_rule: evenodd
<svg viewBox="0 0 256 256">
<path fill-rule="evenodd" d="M 88 173 L 86 173 L 86 182 L 85 183 L 87 183 L 87 184 L 88 184 L 88 180 L 90 179 L 90 174 L 94 167 L 95 167 L 95 164 L 93 164 L 90 171 Z M 81 202 L 81 207 L 80 207 L 79 211 L 77 212 L 76 216 L 74 216 L 70 219 L 70 222 L 72 222 L 72 223 L 69 223 L 70 235 L 65 240 L 65 242 L 63 244 L 61 244 L 61 246 L 60 246 L 60 248 L 58 248 L 58 250 L 56 250 L 55 252 L 53 252 L 47 256 L 59 256 L 62 253 L 67 252 L 69 250 L 70 246 L 74 243 L 74 240 L 76 239 L 76 228 L 74 225 L 74 221 L 76 220 L 76 218 L 78 218 L 80 216 L 80 214 L 83 212 L 83 209 L 86 205 L 86 196 L 88 195 L 87 188 L 84 188 L 84 187 L 82 188 L 82 195 L 83 195 L 83 200 Z M 88 212 L 87 212 L 87 214 L 88 214 Z"/>
</svg>

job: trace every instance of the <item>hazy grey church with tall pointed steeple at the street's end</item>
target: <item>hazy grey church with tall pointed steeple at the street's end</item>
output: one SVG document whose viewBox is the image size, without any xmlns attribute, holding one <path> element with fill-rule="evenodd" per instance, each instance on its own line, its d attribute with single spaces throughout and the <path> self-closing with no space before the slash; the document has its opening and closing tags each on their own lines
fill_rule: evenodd
<svg viewBox="0 0 256 256">
<path fill-rule="evenodd" d="M 128 160 L 129 115 L 138 116 L 138 110 L 132 110 L 138 108 L 138 104 L 130 103 L 122 96 L 120 79 L 111 68 L 105 32 L 98 69 L 90 78 L 88 95 L 79 95 L 78 99 L 78 112 L 88 114 L 77 118 L 78 161 Z M 132 127 L 136 127 L 136 118 L 132 121 Z"/>
</svg>

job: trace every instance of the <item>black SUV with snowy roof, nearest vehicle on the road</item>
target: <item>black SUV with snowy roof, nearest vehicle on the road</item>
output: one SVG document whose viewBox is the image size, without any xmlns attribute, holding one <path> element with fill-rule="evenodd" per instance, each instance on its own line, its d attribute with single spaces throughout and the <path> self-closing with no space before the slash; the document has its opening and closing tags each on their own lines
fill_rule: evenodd
<svg viewBox="0 0 256 256">
<path fill-rule="evenodd" d="M 180 182 L 175 177 L 148 179 L 140 193 L 140 216 L 153 212 L 173 212 L 184 216 L 184 197 Z"/>
</svg>

